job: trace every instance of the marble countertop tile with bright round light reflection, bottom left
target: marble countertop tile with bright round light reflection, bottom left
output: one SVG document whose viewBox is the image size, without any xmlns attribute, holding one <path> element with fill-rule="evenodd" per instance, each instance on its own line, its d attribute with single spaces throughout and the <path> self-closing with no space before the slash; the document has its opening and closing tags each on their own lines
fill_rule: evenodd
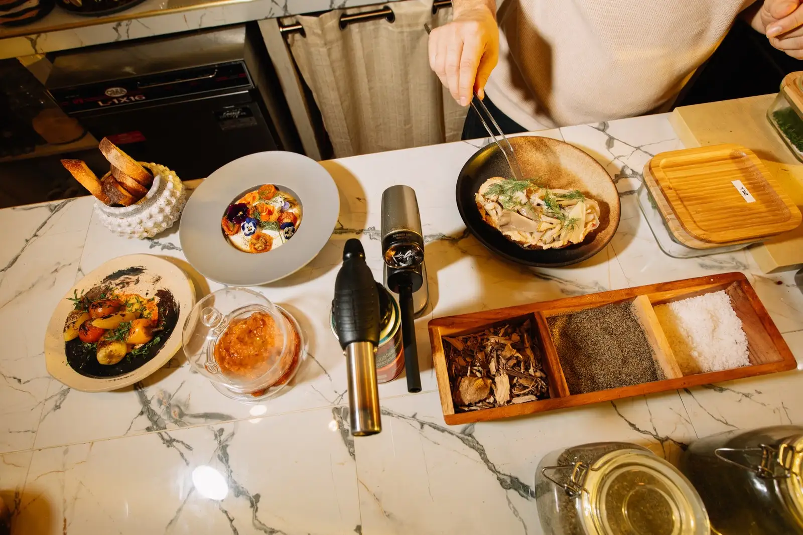
<svg viewBox="0 0 803 535">
<path fill-rule="evenodd" d="M 341 416 L 327 408 L 35 451 L 14 535 L 351 535 L 361 521 Z"/>
</svg>

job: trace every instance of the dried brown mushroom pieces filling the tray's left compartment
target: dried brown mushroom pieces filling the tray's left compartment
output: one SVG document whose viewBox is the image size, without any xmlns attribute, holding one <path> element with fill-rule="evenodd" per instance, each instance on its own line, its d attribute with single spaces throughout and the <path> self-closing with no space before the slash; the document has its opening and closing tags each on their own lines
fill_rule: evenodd
<svg viewBox="0 0 803 535">
<path fill-rule="evenodd" d="M 549 397 L 530 321 L 463 337 L 443 337 L 452 398 L 458 411 Z"/>
</svg>

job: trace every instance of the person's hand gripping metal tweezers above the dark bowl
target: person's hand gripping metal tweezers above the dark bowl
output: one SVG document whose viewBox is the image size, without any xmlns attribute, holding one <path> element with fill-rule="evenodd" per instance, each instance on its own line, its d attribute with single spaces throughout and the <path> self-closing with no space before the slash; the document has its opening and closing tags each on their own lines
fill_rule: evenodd
<svg viewBox="0 0 803 535">
<path fill-rule="evenodd" d="M 485 83 L 499 60 L 499 28 L 484 2 L 455 8 L 452 22 L 430 34 L 430 67 L 461 106 L 476 91 L 485 97 Z"/>
</svg>

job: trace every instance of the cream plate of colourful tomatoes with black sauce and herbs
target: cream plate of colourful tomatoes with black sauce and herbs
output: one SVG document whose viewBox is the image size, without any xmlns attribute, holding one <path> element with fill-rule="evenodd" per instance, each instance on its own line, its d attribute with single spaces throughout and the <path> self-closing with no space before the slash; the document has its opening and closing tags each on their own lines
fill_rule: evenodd
<svg viewBox="0 0 803 535">
<path fill-rule="evenodd" d="M 153 255 L 112 259 L 59 301 L 45 333 L 47 372 L 85 392 L 148 377 L 181 348 L 195 304 L 181 268 Z"/>
</svg>

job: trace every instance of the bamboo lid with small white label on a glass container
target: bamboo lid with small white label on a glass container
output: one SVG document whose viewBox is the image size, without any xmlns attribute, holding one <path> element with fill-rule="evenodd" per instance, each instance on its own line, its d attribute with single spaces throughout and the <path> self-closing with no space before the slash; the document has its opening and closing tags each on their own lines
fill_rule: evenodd
<svg viewBox="0 0 803 535">
<path fill-rule="evenodd" d="M 687 247 L 755 243 L 801 224 L 789 195 L 740 145 L 660 153 L 643 175 L 672 235 Z"/>
</svg>

